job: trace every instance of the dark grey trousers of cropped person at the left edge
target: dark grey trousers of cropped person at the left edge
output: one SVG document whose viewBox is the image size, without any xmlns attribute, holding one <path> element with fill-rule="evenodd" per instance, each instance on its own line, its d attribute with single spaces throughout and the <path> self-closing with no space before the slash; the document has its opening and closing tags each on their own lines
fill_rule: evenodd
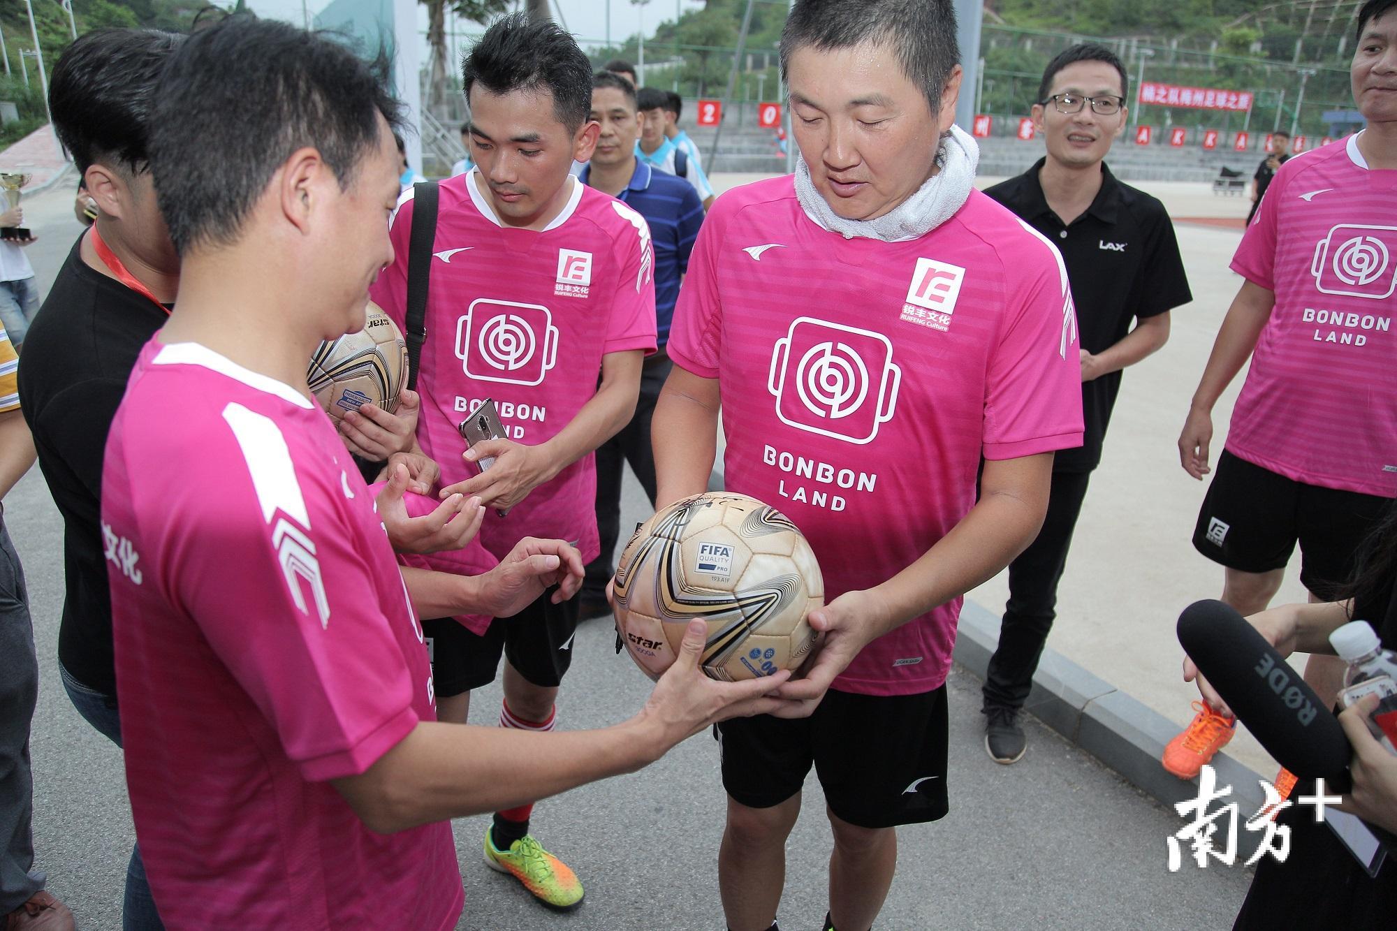
<svg viewBox="0 0 1397 931">
<path fill-rule="evenodd" d="M 39 699 L 39 661 L 24 569 L 0 520 L 0 917 L 43 889 L 34 868 L 34 776 L 29 724 Z"/>
</svg>

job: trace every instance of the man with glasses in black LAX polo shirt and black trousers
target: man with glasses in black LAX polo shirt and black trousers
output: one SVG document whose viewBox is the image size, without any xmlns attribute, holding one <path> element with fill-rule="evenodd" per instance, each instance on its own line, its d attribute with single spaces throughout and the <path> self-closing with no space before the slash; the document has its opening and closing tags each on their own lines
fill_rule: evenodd
<svg viewBox="0 0 1397 931">
<path fill-rule="evenodd" d="M 985 749 L 997 763 L 1017 762 L 1027 746 L 1018 713 L 1056 616 L 1058 582 L 1101 461 L 1120 369 L 1164 345 L 1169 310 L 1193 299 L 1164 204 L 1118 182 L 1102 162 L 1125 129 L 1126 85 L 1120 60 L 1099 45 L 1053 59 L 1032 108 L 1046 158 L 985 192 L 1062 252 L 1077 305 L 1085 421 L 1083 446 L 1053 461 L 1038 538 L 1009 563 L 1009 602 L 983 686 Z"/>
</svg>

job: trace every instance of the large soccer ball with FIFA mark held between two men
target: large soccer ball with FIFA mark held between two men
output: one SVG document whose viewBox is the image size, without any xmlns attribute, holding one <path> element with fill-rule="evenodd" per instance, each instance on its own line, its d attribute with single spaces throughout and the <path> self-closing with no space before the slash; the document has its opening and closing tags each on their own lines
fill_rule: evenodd
<svg viewBox="0 0 1397 931">
<path fill-rule="evenodd" d="M 806 615 L 824 604 L 814 552 L 756 498 L 694 495 L 636 530 L 616 570 L 616 632 L 650 678 L 675 661 L 685 629 L 708 622 L 700 657 L 733 682 L 798 667 L 814 646 Z"/>
</svg>

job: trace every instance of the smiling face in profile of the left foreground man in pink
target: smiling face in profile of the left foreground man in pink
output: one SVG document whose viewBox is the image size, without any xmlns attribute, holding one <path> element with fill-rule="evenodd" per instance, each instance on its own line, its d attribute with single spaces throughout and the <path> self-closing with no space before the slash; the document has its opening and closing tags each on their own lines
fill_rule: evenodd
<svg viewBox="0 0 1397 931">
<path fill-rule="evenodd" d="M 387 120 L 379 117 L 379 143 L 353 169 L 349 186 L 331 203 L 335 249 L 321 250 L 334 274 L 334 320 L 323 338 L 363 329 L 369 285 L 393 261 L 388 218 L 398 201 L 398 147 Z M 334 194 L 331 194 L 334 197 Z"/>
</svg>

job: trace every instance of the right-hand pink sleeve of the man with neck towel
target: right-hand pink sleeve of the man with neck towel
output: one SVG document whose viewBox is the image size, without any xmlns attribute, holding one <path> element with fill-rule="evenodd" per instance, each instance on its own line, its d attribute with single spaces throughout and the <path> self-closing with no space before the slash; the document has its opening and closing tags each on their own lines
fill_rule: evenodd
<svg viewBox="0 0 1397 931">
<path fill-rule="evenodd" d="M 1062 259 L 1044 245 L 1052 259 L 1045 256 L 1037 274 L 1007 275 L 1009 306 L 985 384 L 985 459 L 1081 446 L 1077 315 Z"/>
</svg>

